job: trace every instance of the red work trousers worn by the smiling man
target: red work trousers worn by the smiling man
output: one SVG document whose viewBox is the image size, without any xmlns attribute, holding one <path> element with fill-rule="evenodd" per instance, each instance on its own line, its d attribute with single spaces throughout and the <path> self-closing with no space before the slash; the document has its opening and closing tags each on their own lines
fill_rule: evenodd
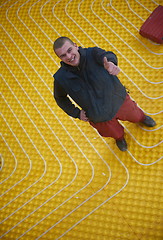
<svg viewBox="0 0 163 240">
<path fill-rule="evenodd" d="M 131 100 L 130 96 L 127 95 L 124 103 L 112 120 L 100 123 L 90 122 L 90 124 L 97 129 L 101 136 L 120 140 L 124 138 L 124 128 L 118 120 L 136 123 L 142 122 L 144 119 L 144 112 Z"/>
</svg>

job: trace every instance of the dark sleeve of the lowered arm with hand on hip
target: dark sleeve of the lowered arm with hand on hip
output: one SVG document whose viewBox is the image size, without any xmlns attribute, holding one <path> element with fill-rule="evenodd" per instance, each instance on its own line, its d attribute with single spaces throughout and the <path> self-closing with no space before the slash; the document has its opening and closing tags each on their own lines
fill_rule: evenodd
<svg viewBox="0 0 163 240">
<path fill-rule="evenodd" d="M 80 119 L 80 109 L 70 101 L 64 88 L 54 80 L 54 98 L 58 106 L 69 116 Z"/>
</svg>

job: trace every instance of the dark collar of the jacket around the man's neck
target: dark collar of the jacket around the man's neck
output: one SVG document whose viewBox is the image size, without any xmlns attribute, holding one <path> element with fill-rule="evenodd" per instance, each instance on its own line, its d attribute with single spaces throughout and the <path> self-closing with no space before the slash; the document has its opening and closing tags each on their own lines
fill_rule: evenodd
<svg viewBox="0 0 163 240">
<path fill-rule="evenodd" d="M 80 62 L 77 67 L 70 66 L 70 65 L 64 63 L 63 61 L 60 62 L 61 67 L 63 67 L 64 69 L 66 69 L 68 71 L 71 71 L 71 72 L 76 72 L 76 71 L 82 70 L 86 63 L 86 49 L 79 47 L 78 51 L 80 54 Z"/>
</svg>

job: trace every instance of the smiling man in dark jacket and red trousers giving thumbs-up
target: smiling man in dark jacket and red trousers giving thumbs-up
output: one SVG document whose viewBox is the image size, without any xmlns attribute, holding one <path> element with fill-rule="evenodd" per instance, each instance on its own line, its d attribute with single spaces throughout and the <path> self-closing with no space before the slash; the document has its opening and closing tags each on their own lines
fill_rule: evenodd
<svg viewBox="0 0 163 240">
<path fill-rule="evenodd" d="M 54 98 L 69 116 L 89 121 L 101 136 L 114 138 L 121 151 L 127 150 L 127 143 L 118 120 L 141 122 L 148 127 L 156 125 L 130 99 L 119 81 L 120 69 L 113 52 L 78 47 L 67 37 L 56 39 L 53 48 L 62 60 L 53 76 Z"/>
</svg>

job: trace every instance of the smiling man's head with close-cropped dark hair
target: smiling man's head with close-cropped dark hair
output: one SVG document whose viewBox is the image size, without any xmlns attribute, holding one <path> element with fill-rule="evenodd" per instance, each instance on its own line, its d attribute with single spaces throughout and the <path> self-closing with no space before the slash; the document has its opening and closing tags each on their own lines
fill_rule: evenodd
<svg viewBox="0 0 163 240">
<path fill-rule="evenodd" d="M 53 44 L 55 54 L 66 64 L 78 66 L 80 54 L 78 46 L 67 37 L 59 37 Z"/>
</svg>

